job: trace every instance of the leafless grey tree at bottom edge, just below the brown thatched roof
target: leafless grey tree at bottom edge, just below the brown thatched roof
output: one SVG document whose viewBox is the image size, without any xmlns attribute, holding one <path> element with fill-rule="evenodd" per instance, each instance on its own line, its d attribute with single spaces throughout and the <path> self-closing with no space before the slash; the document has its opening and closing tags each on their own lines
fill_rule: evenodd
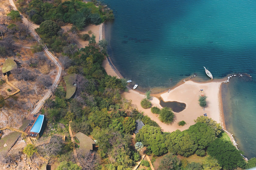
<svg viewBox="0 0 256 170">
<path fill-rule="evenodd" d="M 99 155 L 96 152 L 85 152 L 82 149 L 78 149 L 77 158 L 82 170 L 96 169 L 100 162 Z"/>
</svg>

